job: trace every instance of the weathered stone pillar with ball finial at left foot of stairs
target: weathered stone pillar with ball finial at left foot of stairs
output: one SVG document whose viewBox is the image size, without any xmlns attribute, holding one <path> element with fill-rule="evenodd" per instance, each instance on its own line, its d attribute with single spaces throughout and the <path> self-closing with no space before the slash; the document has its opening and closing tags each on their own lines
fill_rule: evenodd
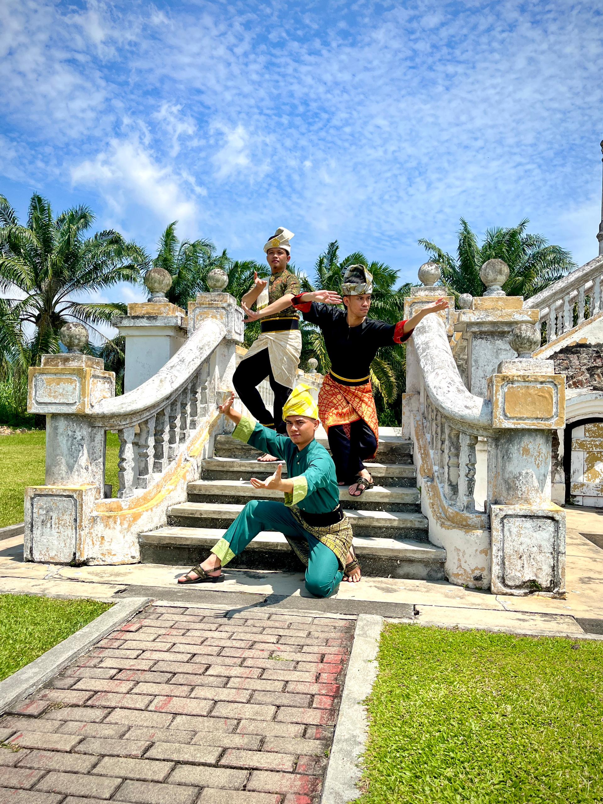
<svg viewBox="0 0 603 804">
<path fill-rule="evenodd" d="M 46 415 L 46 486 L 25 490 L 25 559 L 69 564 L 84 544 L 84 523 L 105 482 L 105 430 L 84 414 L 115 396 L 115 375 L 82 355 L 88 330 L 66 324 L 68 354 L 43 355 L 29 370 L 27 411 Z"/>
</svg>

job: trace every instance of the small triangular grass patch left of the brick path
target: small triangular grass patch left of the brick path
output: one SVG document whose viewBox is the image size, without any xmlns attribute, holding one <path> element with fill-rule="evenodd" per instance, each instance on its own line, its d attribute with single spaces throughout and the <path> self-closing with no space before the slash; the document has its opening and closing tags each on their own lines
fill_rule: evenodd
<svg viewBox="0 0 603 804">
<path fill-rule="evenodd" d="M 110 608 L 97 601 L 0 595 L 0 681 Z"/>
</svg>

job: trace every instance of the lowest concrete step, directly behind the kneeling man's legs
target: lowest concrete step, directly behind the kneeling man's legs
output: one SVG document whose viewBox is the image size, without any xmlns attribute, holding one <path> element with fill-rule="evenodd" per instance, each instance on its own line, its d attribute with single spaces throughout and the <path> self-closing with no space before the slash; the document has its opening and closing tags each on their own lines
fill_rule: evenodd
<svg viewBox="0 0 603 804">
<path fill-rule="evenodd" d="M 196 564 L 224 535 L 224 528 L 162 527 L 140 536 L 141 560 L 146 564 Z M 429 542 L 355 536 L 356 555 L 366 576 L 443 580 L 446 552 Z M 263 531 L 233 559 L 233 569 L 277 569 L 301 572 L 285 536 Z"/>
</svg>

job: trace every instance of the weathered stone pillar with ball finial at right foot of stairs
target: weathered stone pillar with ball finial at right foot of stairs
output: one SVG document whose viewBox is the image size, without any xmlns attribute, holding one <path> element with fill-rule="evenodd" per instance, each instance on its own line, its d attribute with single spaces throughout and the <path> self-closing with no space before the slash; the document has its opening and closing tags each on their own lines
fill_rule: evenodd
<svg viewBox="0 0 603 804">
<path fill-rule="evenodd" d="M 565 382 L 552 360 L 531 359 L 538 330 L 511 337 L 519 358 L 503 360 L 488 380 L 488 508 L 493 593 L 551 594 L 565 589 L 565 514 L 551 502 L 552 430 L 564 426 Z"/>
</svg>

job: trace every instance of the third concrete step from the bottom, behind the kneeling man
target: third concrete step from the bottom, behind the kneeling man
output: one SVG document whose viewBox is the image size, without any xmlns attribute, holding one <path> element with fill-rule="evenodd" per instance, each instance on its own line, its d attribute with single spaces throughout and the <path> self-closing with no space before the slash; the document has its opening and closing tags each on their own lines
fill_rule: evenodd
<svg viewBox="0 0 603 804">
<path fill-rule="evenodd" d="M 261 466 L 261 464 L 260 464 Z M 272 474 L 272 473 L 271 473 Z M 257 490 L 248 480 L 197 480 L 187 486 L 190 503 L 240 503 L 250 499 L 271 499 L 282 502 L 282 491 Z M 365 511 L 419 511 L 419 491 L 408 488 L 375 486 L 360 497 L 348 494 L 347 486 L 339 489 L 339 499 L 346 508 Z"/>
</svg>

